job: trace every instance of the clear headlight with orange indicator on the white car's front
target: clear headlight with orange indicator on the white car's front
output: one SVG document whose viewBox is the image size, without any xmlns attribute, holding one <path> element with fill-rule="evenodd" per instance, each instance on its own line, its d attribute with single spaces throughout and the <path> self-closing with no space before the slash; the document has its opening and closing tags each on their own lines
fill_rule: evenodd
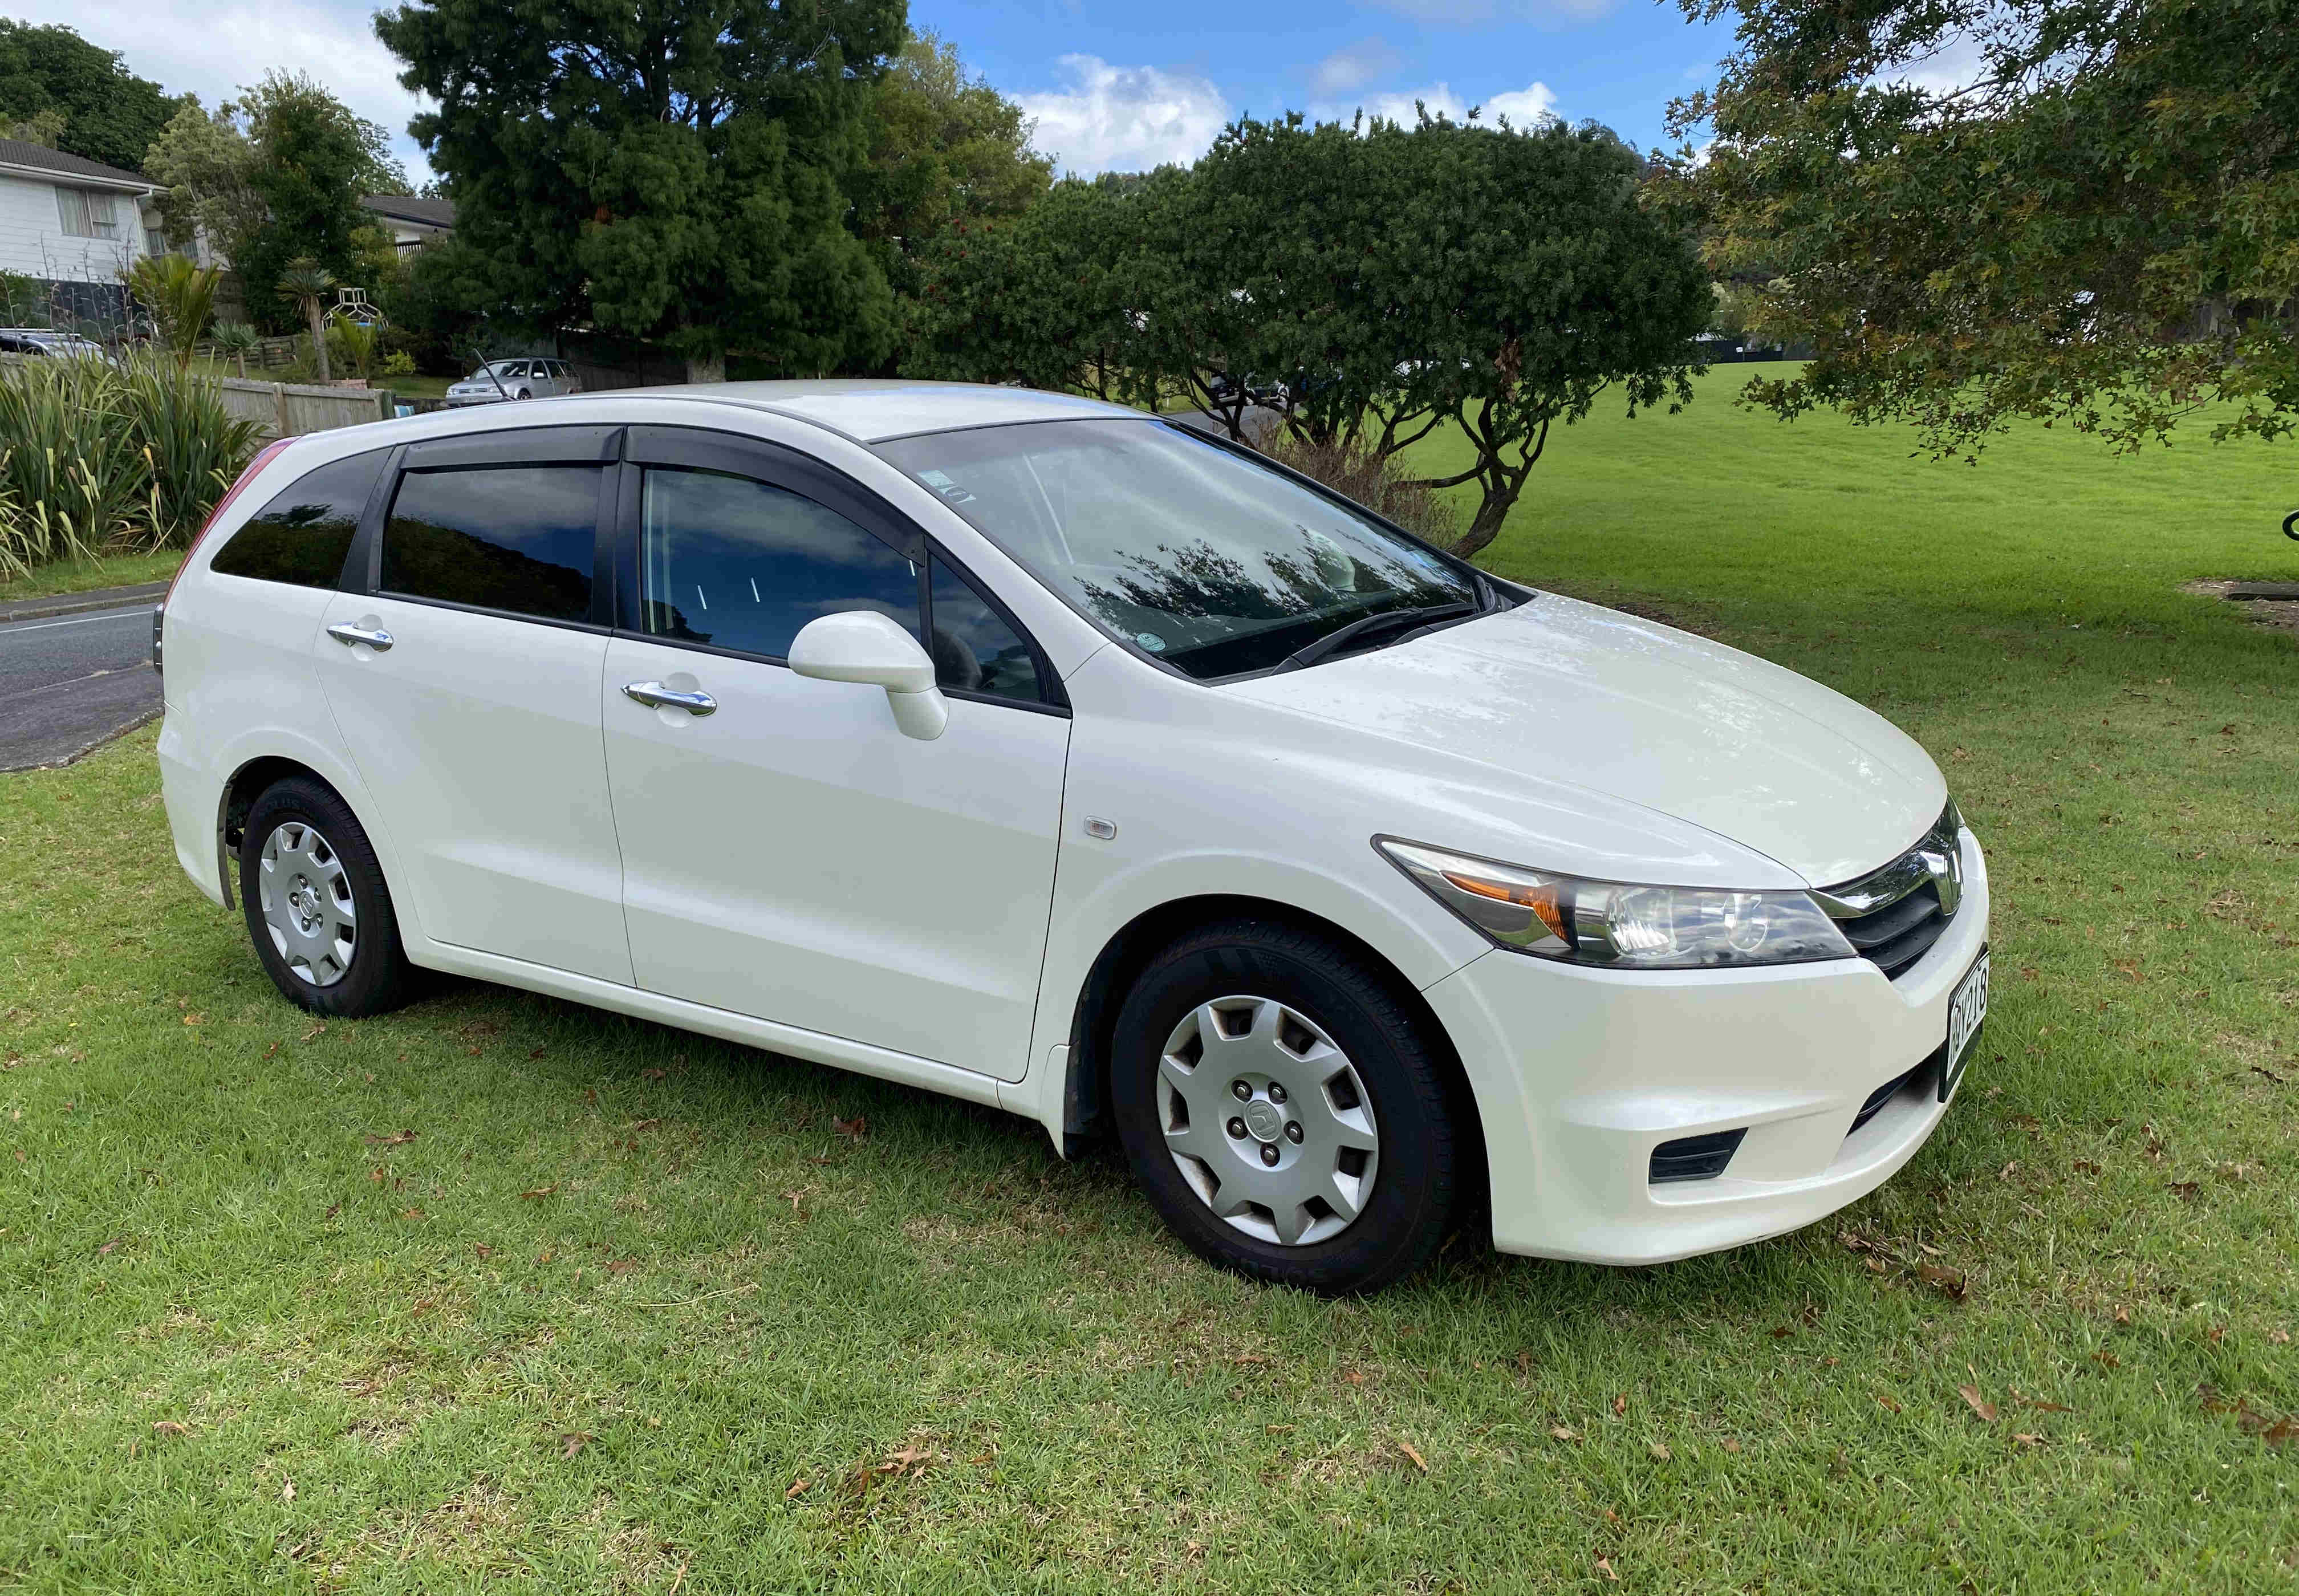
<svg viewBox="0 0 2299 1596">
<path fill-rule="evenodd" d="M 1582 881 L 1375 837 L 1389 862 L 1501 947 L 1612 970 L 1855 959 L 1807 892 Z"/>
</svg>

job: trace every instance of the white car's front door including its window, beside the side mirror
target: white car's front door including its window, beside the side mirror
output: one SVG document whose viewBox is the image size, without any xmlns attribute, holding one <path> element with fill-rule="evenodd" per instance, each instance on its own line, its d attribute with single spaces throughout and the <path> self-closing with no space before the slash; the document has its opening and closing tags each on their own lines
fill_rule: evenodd
<svg viewBox="0 0 2299 1596">
<path fill-rule="evenodd" d="M 1021 1079 L 1069 750 L 1035 651 L 821 467 L 669 428 L 635 428 L 630 455 L 600 701 L 639 987 Z M 938 741 L 904 736 L 878 688 L 782 662 L 841 609 L 929 639 L 952 688 Z"/>
</svg>

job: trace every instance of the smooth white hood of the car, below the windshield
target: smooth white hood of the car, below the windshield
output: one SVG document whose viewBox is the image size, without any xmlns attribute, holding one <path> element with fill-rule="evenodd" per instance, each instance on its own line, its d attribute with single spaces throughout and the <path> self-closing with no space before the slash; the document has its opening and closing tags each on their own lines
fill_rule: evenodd
<svg viewBox="0 0 2299 1596">
<path fill-rule="evenodd" d="M 1554 593 L 1223 690 L 1655 809 L 1809 885 L 1897 858 L 1947 803 L 1931 757 L 1844 695 Z"/>
</svg>

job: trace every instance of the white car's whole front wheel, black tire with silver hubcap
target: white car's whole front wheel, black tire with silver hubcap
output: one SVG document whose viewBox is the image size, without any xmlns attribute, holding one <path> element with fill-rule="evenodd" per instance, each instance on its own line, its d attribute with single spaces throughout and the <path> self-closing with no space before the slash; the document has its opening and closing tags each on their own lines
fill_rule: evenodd
<svg viewBox="0 0 2299 1596">
<path fill-rule="evenodd" d="M 1310 931 L 1184 936 L 1117 1012 L 1110 1111 L 1133 1180 L 1191 1251 L 1251 1279 L 1350 1295 L 1409 1276 L 1444 1244 L 1462 1171 L 1425 1026 L 1389 970 Z"/>
</svg>

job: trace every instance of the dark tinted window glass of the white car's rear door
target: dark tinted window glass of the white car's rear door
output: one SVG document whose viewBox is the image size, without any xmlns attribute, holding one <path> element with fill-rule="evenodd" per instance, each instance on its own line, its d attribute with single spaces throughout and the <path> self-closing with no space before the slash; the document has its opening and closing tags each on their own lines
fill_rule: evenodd
<svg viewBox="0 0 2299 1596">
<path fill-rule="evenodd" d="M 409 471 L 384 524 L 382 591 L 589 621 L 595 465 Z"/>
</svg>

